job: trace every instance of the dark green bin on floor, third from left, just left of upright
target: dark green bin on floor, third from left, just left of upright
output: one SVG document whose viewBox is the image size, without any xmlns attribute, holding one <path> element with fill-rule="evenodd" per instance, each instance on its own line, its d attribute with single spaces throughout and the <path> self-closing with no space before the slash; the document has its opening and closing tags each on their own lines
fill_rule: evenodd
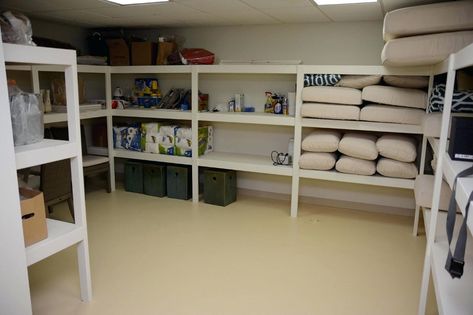
<svg viewBox="0 0 473 315">
<path fill-rule="evenodd" d="M 188 200 L 192 197 L 192 169 L 190 166 L 168 165 L 166 174 L 169 198 Z"/>
</svg>

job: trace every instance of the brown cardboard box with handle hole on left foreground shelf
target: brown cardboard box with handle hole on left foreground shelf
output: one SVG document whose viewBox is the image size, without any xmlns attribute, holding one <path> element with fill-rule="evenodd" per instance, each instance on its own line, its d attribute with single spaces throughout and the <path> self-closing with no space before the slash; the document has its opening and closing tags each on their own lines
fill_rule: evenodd
<svg viewBox="0 0 473 315">
<path fill-rule="evenodd" d="M 37 190 L 20 188 L 21 221 L 25 246 L 48 237 L 43 193 Z"/>
</svg>

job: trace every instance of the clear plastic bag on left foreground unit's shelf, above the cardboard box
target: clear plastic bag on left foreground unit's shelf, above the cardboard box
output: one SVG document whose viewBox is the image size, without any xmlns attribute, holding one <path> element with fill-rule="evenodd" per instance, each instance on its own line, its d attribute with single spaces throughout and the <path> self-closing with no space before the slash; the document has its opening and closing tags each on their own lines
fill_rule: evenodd
<svg viewBox="0 0 473 315">
<path fill-rule="evenodd" d="M 16 91 L 10 95 L 10 114 L 15 146 L 35 143 L 44 138 L 41 97 Z"/>
</svg>

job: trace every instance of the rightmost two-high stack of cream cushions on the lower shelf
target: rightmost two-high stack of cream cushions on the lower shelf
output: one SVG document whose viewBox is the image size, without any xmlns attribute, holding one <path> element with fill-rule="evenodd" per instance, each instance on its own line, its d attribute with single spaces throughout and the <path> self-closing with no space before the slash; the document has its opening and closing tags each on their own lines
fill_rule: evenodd
<svg viewBox="0 0 473 315">
<path fill-rule="evenodd" d="M 382 156 L 378 160 L 376 170 L 388 177 L 415 178 L 417 167 L 416 140 L 409 136 L 387 134 L 376 141 L 376 148 Z"/>
</svg>

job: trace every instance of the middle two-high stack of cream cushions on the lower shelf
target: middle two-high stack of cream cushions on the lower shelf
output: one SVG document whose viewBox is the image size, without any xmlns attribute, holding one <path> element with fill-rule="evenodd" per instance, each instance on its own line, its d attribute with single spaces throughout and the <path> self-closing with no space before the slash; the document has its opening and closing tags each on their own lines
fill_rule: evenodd
<svg viewBox="0 0 473 315">
<path fill-rule="evenodd" d="M 343 155 L 337 161 L 335 169 L 341 173 L 374 175 L 376 173 L 376 136 L 366 133 L 346 133 L 338 151 Z"/>
</svg>

